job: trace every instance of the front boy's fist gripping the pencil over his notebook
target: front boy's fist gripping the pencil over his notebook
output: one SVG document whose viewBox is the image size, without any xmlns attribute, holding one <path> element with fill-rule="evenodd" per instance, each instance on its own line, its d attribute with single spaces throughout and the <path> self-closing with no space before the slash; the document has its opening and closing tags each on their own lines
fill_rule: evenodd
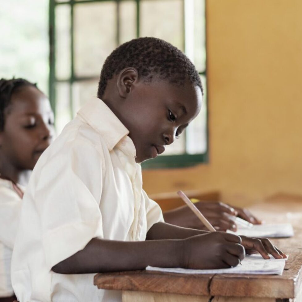
<svg viewBox="0 0 302 302">
<path fill-rule="evenodd" d="M 183 240 L 183 267 L 218 269 L 237 266 L 245 257 L 241 238 L 237 235 L 212 232 Z"/>
</svg>

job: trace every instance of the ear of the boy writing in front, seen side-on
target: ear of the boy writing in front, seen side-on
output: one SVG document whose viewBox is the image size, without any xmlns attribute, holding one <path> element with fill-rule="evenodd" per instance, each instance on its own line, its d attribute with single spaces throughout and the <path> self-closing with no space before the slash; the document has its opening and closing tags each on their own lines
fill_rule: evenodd
<svg viewBox="0 0 302 302">
<path fill-rule="evenodd" d="M 133 84 L 137 81 L 138 72 L 133 67 L 124 68 L 117 77 L 117 89 L 121 98 L 126 98 L 131 92 Z"/>
</svg>

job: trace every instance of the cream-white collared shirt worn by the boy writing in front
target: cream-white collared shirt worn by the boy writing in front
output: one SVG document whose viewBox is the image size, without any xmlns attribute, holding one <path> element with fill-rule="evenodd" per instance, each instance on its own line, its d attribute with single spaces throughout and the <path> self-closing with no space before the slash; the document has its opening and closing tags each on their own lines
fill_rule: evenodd
<svg viewBox="0 0 302 302">
<path fill-rule="evenodd" d="M 94 99 L 41 155 L 23 197 L 12 259 L 20 302 L 116 302 L 95 274 L 63 275 L 52 266 L 94 237 L 142 241 L 162 213 L 142 189 L 141 166 L 128 130 Z"/>
</svg>

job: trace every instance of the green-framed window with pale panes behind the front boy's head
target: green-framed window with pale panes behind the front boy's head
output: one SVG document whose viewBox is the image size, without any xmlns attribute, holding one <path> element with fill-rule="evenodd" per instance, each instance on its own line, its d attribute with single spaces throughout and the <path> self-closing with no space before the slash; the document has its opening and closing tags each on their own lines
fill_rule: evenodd
<svg viewBox="0 0 302 302">
<path fill-rule="evenodd" d="M 82 102 L 96 96 L 106 57 L 136 37 L 158 37 L 184 51 L 206 88 L 204 0 L 50 0 L 49 21 L 49 91 L 58 133 Z M 143 168 L 207 161 L 205 99 L 199 116 L 180 138 Z"/>
</svg>

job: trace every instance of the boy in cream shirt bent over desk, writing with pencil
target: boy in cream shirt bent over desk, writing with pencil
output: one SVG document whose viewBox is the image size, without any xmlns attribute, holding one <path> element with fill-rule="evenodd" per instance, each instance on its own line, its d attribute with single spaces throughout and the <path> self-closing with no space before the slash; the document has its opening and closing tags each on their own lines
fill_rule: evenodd
<svg viewBox="0 0 302 302">
<path fill-rule="evenodd" d="M 165 224 L 142 190 L 139 163 L 195 118 L 202 92 L 194 65 L 163 40 L 111 53 L 99 99 L 43 153 L 24 195 L 12 261 L 20 302 L 120 301 L 119 291 L 93 286 L 97 272 L 236 266 L 245 250 L 283 257 L 268 240 Z"/>
</svg>

